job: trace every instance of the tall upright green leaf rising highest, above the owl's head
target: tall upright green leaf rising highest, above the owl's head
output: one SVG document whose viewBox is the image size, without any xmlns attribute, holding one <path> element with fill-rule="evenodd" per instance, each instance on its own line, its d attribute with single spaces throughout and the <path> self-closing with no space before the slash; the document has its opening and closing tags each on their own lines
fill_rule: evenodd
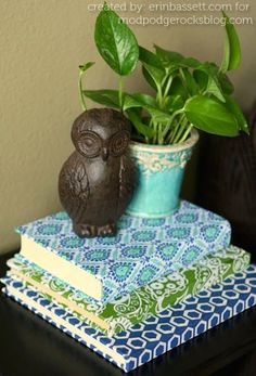
<svg viewBox="0 0 256 376">
<path fill-rule="evenodd" d="M 126 76 L 135 69 L 139 60 L 137 39 L 120 17 L 106 7 L 97 17 L 94 40 L 101 56 L 118 75 Z"/>
</svg>

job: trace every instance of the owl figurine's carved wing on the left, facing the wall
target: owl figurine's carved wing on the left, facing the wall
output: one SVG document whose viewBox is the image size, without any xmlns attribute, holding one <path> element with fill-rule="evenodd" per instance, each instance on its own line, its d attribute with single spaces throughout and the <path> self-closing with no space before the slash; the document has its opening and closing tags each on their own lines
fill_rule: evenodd
<svg viewBox="0 0 256 376">
<path fill-rule="evenodd" d="M 67 160 L 63 166 L 59 180 L 59 193 L 69 217 L 79 223 L 90 194 L 86 166 L 80 158 L 73 158 L 72 163 Z"/>
</svg>

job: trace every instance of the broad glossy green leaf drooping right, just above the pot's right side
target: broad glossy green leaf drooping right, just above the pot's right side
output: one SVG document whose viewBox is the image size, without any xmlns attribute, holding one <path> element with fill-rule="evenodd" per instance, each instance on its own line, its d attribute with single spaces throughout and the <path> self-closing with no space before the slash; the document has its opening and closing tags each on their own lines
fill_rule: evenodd
<svg viewBox="0 0 256 376">
<path fill-rule="evenodd" d="M 212 134 L 235 137 L 239 125 L 223 104 L 203 96 L 195 95 L 184 105 L 187 119 L 196 128 Z"/>
</svg>

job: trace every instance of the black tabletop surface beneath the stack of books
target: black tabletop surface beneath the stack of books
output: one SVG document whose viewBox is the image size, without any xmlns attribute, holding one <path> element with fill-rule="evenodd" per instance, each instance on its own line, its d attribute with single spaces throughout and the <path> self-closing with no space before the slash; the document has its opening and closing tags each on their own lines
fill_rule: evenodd
<svg viewBox="0 0 256 376">
<path fill-rule="evenodd" d="M 0 275 L 13 254 L 0 257 Z M 129 375 L 206 376 L 256 350 L 256 308 Z M 124 375 L 104 359 L 0 294 L 0 376 Z"/>
</svg>

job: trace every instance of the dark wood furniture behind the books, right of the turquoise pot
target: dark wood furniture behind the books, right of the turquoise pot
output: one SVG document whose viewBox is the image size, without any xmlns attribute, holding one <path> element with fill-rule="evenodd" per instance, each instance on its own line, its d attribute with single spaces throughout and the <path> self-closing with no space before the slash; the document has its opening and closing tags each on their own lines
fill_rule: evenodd
<svg viewBox="0 0 256 376">
<path fill-rule="evenodd" d="M 232 244 L 256 256 L 256 102 L 249 124 L 249 135 L 202 134 L 196 204 L 228 219 Z"/>
</svg>

